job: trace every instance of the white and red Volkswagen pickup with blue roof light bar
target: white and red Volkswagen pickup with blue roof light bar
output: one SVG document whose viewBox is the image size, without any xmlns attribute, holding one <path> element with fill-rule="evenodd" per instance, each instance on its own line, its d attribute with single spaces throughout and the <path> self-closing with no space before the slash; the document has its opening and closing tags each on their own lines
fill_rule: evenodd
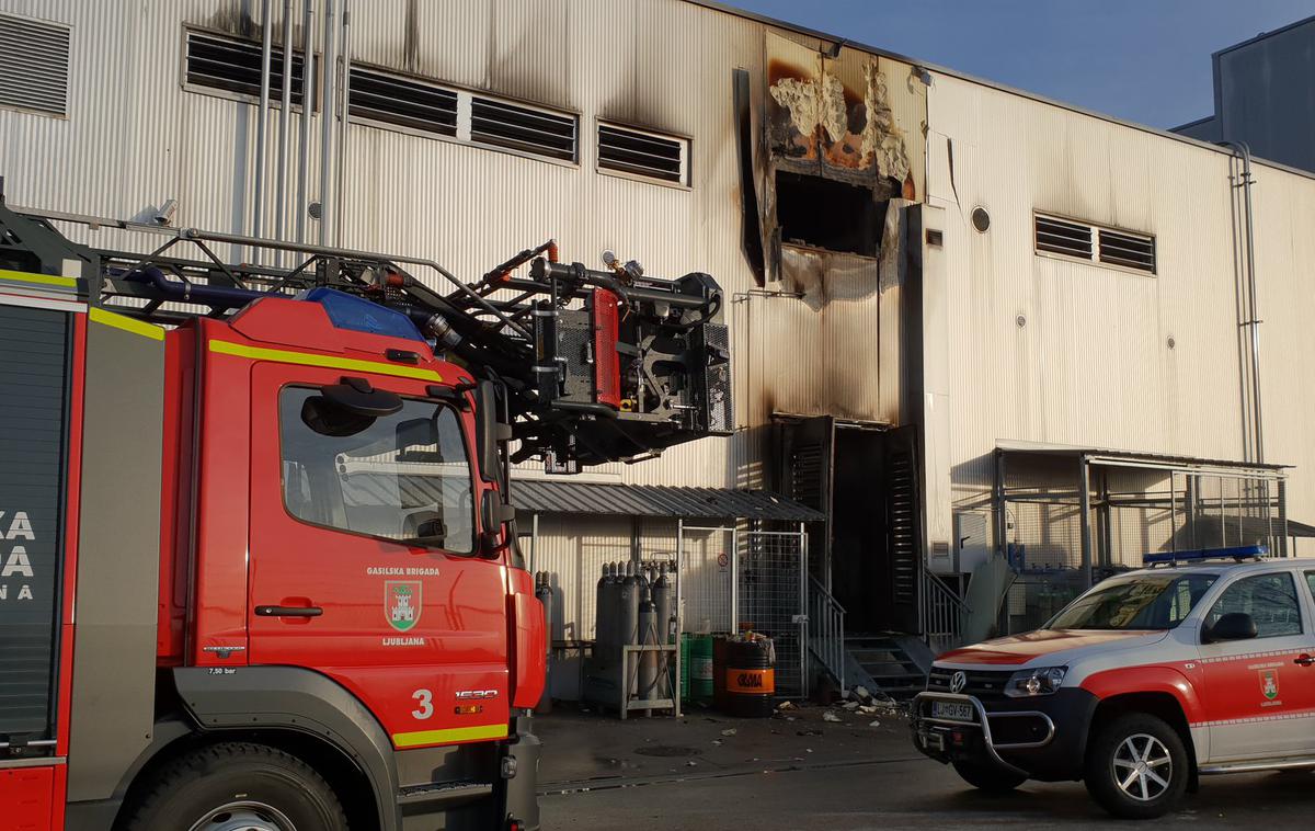
<svg viewBox="0 0 1315 831">
<path fill-rule="evenodd" d="M 1084 780 L 1118 817 L 1199 774 L 1315 768 L 1315 559 L 1151 555 L 1040 630 L 936 659 L 914 744 L 970 785 Z"/>
</svg>

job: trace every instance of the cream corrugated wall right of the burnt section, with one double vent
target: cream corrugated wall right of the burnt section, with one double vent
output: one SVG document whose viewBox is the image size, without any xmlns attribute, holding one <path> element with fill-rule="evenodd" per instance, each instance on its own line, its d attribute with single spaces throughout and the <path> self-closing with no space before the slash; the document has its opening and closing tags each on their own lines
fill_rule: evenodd
<svg viewBox="0 0 1315 831">
<path fill-rule="evenodd" d="M 945 209 L 953 506 L 981 505 L 1001 439 L 1243 460 L 1228 156 L 944 75 L 928 121 L 930 201 Z M 1304 519 L 1315 180 L 1264 164 L 1256 179 L 1265 458 L 1297 465 L 1289 515 Z M 1155 234 L 1159 273 L 1038 256 L 1034 210 Z"/>
</svg>

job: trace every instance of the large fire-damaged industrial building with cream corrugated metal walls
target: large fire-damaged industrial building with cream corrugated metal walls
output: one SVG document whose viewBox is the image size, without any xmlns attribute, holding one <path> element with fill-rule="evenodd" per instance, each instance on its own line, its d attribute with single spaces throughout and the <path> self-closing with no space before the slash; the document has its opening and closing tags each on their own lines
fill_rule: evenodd
<svg viewBox="0 0 1315 831">
<path fill-rule="evenodd" d="M 1310 174 L 698 0 L 0 0 L 0 42 L 12 204 L 721 283 L 734 434 L 513 492 L 562 667 L 609 561 L 679 552 L 684 627 L 793 639 L 802 692 L 1315 533 Z"/>
</svg>

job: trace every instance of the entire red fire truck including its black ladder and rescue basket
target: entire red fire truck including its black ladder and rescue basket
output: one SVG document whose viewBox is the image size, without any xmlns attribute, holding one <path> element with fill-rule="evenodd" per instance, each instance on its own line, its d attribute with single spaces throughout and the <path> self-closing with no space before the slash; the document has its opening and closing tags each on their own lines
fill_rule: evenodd
<svg viewBox="0 0 1315 831">
<path fill-rule="evenodd" d="M 467 284 L 0 196 L 0 827 L 538 827 L 509 467 L 730 423 L 715 281 L 605 259 Z"/>
</svg>

